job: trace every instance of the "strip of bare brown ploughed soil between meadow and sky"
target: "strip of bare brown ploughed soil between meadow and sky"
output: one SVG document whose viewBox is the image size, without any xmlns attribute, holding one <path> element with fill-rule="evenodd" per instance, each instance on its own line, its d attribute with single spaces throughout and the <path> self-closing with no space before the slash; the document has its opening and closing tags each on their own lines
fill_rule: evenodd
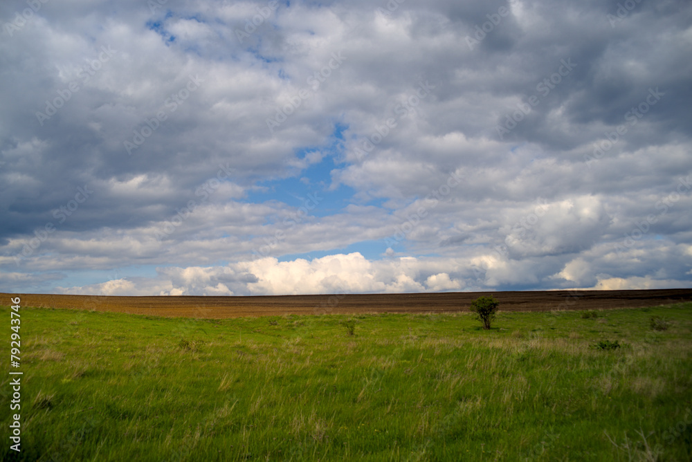
<svg viewBox="0 0 692 462">
<path fill-rule="evenodd" d="M 600 310 L 692 302 L 691 289 L 554 290 L 535 292 L 412 293 L 386 295 L 282 295 L 255 297 L 108 297 L 0 294 L 0 305 L 115 311 L 165 317 L 226 318 L 325 313 L 453 313 L 491 295 L 500 311 Z"/>
</svg>

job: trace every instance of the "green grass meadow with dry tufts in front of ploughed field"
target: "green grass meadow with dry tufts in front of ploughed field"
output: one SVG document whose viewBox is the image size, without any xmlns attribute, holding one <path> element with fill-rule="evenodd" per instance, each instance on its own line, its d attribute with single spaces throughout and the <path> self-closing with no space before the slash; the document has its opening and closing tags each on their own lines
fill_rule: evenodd
<svg viewBox="0 0 692 462">
<path fill-rule="evenodd" d="M 692 460 L 689 303 L 501 312 L 490 331 L 473 313 L 20 313 L 3 461 Z M 7 373 L 0 394 L 8 435 Z"/>
</svg>

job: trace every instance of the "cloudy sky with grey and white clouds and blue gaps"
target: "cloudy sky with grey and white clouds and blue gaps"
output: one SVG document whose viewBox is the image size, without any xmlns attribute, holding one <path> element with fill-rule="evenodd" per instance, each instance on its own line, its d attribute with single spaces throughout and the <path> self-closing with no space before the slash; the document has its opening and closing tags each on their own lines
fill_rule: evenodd
<svg viewBox="0 0 692 462">
<path fill-rule="evenodd" d="M 689 1 L 0 22 L 0 291 L 692 287 Z"/>
</svg>

